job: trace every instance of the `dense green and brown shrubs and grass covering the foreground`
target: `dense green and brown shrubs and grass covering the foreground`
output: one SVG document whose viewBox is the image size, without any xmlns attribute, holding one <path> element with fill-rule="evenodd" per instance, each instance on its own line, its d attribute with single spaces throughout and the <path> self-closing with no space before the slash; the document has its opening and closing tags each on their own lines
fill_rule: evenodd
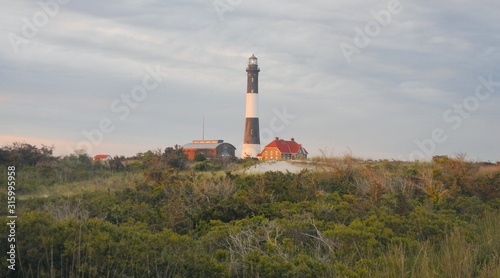
<svg viewBox="0 0 500 278">
<path fill-rule="evenodd" d="M 27 162 L 13 150 L 1 163 L 16 163 L 29 198 L 18 203 L 19 269 L 7 273 L 2 257 L 2 277 L 500 277 L 495 165 L 346 156 L 321 159 L 321 171 L 246 175 L 227 161 L 187 165 L 178 148 L 129 165 L 47 147 Z M 75 182 L 91 186 L 37 195 Z"/>
</svg>

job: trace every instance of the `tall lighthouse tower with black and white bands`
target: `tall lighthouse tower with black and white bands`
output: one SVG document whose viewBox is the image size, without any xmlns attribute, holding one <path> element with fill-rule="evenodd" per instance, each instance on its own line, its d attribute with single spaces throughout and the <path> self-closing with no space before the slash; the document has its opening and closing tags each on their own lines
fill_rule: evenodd
<svg viewBox="0 0 500 278">
<path fill-rule="evenodd" d="M 247 97 L 245 112 L 245 136 L 241 158 L 257 157 L 260 152 L 259 135 L 259 66 L 257 57 L 252 54 L 248 59 L 247 67 Z"/>
</svg>

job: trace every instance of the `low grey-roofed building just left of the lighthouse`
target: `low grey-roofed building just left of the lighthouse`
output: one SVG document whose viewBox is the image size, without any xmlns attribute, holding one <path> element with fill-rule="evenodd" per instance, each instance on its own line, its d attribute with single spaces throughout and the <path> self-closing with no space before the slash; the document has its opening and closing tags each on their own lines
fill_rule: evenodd
<svg viewBox="0 0 500 278">
<path fill-rule="evenodd" d="M 236 148 L 224 143 L 224 140 L 193 140 L 193 143 L 182 146 L 182 152 L 189 160 L 194 160 L 198 153 L 202 153 L 206 158 L 234 157 Z"/>
</svg>

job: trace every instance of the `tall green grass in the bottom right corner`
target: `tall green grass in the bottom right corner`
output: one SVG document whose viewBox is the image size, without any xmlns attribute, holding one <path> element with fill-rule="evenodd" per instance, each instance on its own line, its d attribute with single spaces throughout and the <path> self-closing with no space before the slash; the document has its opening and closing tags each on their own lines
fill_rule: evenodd
<svg viewBox="0 0 500 278">
<path fill-rule="evenodd" d="M 471 227 L 454 229 L 437 245 L 394 246 L 372 277 L 500 277 L 500 211 Z"/>
</svg>

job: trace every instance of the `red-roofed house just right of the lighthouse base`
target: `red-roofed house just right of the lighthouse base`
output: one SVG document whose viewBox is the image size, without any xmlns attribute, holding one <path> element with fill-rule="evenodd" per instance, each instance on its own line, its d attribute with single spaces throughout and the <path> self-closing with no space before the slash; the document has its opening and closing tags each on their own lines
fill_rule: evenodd
<svg viewBox="0 0 500 278">
<path fill-rule="evenodd" d="M 257 158 L 260 160 L 306 159 L 307 154 L 308 152 L 302 147 L 302 144 L 295 142 L 294 138 L 286 141 L 276 137 L 274 141 L 264 147 Z"/>
</svg>

